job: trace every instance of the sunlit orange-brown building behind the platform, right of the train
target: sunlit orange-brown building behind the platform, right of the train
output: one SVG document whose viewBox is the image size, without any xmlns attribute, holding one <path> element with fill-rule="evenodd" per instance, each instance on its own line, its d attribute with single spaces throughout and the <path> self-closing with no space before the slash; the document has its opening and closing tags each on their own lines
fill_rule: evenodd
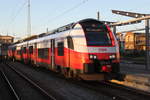
<svg viewBox="0 0 150 100">
<path fill-rule="evenodd" d="M 120 52 L 134 53 L 146 50 L 145 33 L 127 32 L 125 34 L 117 33 Z"/>
</svg>

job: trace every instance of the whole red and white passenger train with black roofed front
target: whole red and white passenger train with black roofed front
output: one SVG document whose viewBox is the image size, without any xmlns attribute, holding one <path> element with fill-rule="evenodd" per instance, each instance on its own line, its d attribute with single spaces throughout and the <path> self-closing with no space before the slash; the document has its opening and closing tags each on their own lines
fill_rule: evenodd
<svg viewBox="0 0 150 100">
<path fill-rule="evenodd" d="M 11 59 L 87 80 L 119 73 L 119 48 L 110 28 L 84 19 L 9 46 Z"/>
</svg>

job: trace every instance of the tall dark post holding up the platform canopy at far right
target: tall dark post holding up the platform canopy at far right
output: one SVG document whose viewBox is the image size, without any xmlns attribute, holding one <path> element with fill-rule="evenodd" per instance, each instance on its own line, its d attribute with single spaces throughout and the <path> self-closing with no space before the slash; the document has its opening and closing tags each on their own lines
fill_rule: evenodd
<svg viewBox="0 0 150 100">
<path fill-rule="evenodd" d="M 146 33 L 146 67 L 145 69 L 150 69 L 150 40 L 149 40 L 149 19 L 145 20 L 145 33 Z"/>
</svg>

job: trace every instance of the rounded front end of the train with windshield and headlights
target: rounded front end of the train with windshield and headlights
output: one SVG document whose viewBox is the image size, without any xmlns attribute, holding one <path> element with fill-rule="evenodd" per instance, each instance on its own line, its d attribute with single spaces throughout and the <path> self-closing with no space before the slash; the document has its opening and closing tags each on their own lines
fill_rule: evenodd
<svg viewBox="0 0 150 100">
<path fill-rule="evenodd" d="M 96 76 L 107 79 L 116 77 L 120 71 L 119 47 L 110 28 L 97 20 L 83 21 L 80 24 L 85 34 L 88 52 L 88 61 L 84 63 L 83 68 L 84 75 L 89 75 L 92 79 Z"/>
</svg>

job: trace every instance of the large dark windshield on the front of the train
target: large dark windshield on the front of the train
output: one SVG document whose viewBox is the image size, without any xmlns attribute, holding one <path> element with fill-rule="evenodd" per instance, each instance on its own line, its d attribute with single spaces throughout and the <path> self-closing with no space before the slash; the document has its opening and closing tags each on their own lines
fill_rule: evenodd
<svg viewBox="0 0 150 100">
<path fill-rule="evenodd" d="M 105 25 L 88 25 L 84 27 L 88 46 L 110 46 L 111 39 Z"/>
</svg>

